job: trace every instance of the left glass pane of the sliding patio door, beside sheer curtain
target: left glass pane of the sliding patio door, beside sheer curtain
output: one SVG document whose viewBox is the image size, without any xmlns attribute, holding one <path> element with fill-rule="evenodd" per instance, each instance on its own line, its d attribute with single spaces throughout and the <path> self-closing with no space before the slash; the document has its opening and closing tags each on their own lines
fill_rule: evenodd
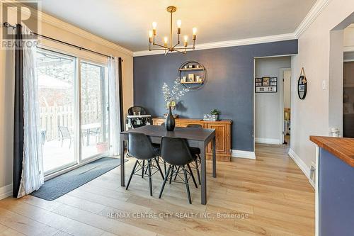
<svg viewBox="0 0 354 236">
<path fill-rule="evenodd" d="M 75 62 L 75 58 L 59 53 L 37 52 L 45 173 L 76 164 Z"/>
</svg>

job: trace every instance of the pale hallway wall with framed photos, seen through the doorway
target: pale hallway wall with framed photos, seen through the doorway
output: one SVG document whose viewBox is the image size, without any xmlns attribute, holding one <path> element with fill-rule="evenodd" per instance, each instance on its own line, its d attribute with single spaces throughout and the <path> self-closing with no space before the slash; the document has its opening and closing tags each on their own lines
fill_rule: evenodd
<svg viewBox="0 0 354 236">
<path fill-rule="evenodd" d="M 282 144 L 282 74 L 281 68 L 290 68 L 290 57 L 258 58 L 255 76 L 278 77 L 277 93 L 256 93 L 255 95 L 255 141 Z"/>
</svg>

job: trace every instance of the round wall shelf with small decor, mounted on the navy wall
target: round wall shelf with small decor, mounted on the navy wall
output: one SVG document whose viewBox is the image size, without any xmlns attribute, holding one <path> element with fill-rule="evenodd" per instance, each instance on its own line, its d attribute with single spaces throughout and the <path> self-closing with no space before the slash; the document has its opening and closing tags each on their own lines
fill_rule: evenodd
<svg viewBox="0 0 354 236">
<path fill-rule="evenodd" d="M 185 88 L 199 89 L 206 82 L 207 72 L 200 62 L 190 60 L 178 68 L 178 79 Z"/>
</svg>

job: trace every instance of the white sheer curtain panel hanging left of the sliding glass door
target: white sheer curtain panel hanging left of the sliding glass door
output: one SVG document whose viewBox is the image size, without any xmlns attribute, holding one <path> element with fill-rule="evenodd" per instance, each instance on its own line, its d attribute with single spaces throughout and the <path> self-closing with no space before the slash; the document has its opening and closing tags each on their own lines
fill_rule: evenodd
<svg viewBox="0 0 354 236">
<path fill-rule="evenodd" d="M 18 198 L 38 190 L 44 184 L 40 113 L 36 77 L 36 47 L 30 40 L 30 30 L 23 34 L 23 169 Z"/>
</svg>

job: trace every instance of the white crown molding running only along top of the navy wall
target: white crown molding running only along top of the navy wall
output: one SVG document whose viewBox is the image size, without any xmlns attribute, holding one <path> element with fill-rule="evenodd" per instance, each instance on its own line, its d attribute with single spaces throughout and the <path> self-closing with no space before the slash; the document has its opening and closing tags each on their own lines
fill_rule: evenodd
<svg viewBox="0 0 354 236">
<path fill-rule="evenodd" d="M 278 41 L 285 41 L 285 40 L 295 40 L 294 33 L 286 33 L 282 35 L 270 35 L 264 37 L 257 37 L 257 38 L 245 38 L 240 40 L 228 40 L 228 41 L 219 41 L 213 43 L 202 43 L 195 45 L 195 50 L 205 50 L 205 49 L 212 49 L 212 48 L 219 48 L 219 47 L 234 47 L 234 46 L 242 46 L 242 45 L 253 45 L 258 43 L 272 43 Z M 147 55 L 158 55 L 164 54 L 164 50 L 161 51 L 137 51 L 133 52 L 133 57 L 141 57 Z"/>
</svg>

